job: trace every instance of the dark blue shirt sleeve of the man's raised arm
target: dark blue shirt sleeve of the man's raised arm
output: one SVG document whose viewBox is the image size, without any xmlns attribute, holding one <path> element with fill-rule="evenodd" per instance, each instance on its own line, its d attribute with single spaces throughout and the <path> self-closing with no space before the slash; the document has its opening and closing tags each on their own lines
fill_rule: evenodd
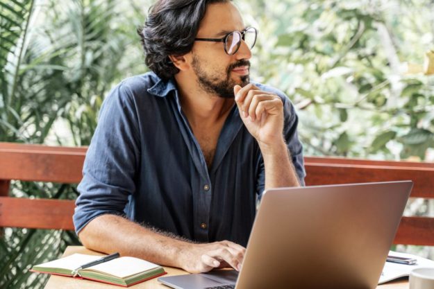
<svg viewBox="0 0 434 289">
<path fill-rule="evenodd" d="M 266 91 L 273 92 L 280 96 L 283 101 L 283 113 L 284 113 L 284 123 L 283 123 L 283 137 L 287 144 L 287 148 L 290 151 L 292 164 L 294 165 L 295 173 L 299 179 L 301 186 L 305 185 L 304 178 L 306 177 L 306 171 L 304 169 L 304 159 L 303 159 L 303 145 L 299 140 L 299 134 L 297 133 L 297 126 L 299 124 L 299 117 L 295 112 L 294 105 L 283 92 L 273 89 L 271 87 L 260 87 Z M 265 166 L 262 155 L 258 159 L 258 182 L 256 193 L 258 193 L 259 198 L 262 197 L 262 193 L 265 190 Z"/>
</svg>

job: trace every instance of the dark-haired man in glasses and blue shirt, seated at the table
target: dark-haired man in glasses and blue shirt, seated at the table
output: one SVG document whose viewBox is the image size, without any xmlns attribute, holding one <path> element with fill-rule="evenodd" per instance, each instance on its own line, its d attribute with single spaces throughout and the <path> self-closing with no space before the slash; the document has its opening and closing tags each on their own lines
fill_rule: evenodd
<svg viewBox="0 0 434 289">
<path fill-rule="evenodd" d="M 231 1 L 160 0 L 139 32 L 153 73 L 101 107 L 78 236 L 188 272 L 240 270 L 262 191 L 303 184 L 297 115 L 280 91 L 250 83 L 256 29 Z"/>
</svg>

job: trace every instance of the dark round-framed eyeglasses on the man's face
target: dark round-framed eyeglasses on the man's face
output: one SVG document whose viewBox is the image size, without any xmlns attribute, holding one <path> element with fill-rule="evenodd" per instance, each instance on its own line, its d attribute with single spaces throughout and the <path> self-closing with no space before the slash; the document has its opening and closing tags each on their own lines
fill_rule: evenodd
<svg viewBox="0 0 434 289">
<path fill-rule="evenodd" d="M 246 42 L 249 49 L 252 49 L 256 43 L 256 36 L 258 30 L 254 27 L 247 27 L 242 31 L 232 31 L 226 34 L 223 38 L 196 38 L 195 41 L 210 41 L 210 42 L 223 42 L 224 51 L 228 55 L 234 55 L 237 53 L 241 46 L 241 40 Z"/>
</svg>

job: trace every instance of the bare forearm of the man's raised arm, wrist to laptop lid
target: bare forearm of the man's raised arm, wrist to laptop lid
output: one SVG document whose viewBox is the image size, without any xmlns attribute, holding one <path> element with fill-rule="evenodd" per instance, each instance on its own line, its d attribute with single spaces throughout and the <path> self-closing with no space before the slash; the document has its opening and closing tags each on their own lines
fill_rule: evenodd
<svg viewBox="0 0 434 289">
<path fill-rule="evenodd" d="M 265 166 L 265 189 L 300 185 L 283 139 L 272 146 L 262 145 L 260 150 Z"/>
</svg>

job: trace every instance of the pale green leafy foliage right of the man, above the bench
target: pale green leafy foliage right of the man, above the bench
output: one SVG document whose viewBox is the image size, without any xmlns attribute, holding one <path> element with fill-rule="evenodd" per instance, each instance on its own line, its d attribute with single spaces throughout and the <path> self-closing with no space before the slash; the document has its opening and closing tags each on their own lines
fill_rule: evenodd
<svg viewBox="0 0 434 289">
<path fill-rule="evenodd" d="M 419 157 L 433 148 L 432 1 L 240 1 L 260 28 L 253 72 L 299 108 L 308 155 Z M 397 21 L 399 19 L 399 21 Z"/>
</svg>

